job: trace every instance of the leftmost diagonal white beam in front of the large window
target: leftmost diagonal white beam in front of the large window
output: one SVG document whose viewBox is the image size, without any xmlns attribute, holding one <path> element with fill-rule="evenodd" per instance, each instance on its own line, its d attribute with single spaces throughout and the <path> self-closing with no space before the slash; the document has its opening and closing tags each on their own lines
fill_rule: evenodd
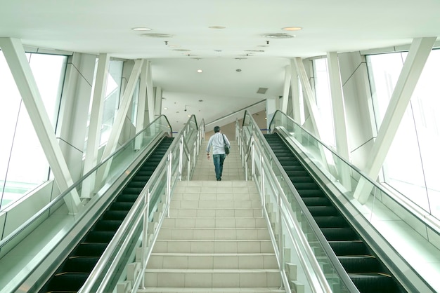
<svg viewBox="0 0 440 293">
<path fill-rule="evenodd" d="M 44 103 L 41 100 L 37 83 L 26 58 L 25 49 L 19 39 L 13 38 L 0 38 L 0 48 L 11 69 L 11 74 L 20 91 L 22 101 L 30 116 L 46 159 L 51 166 L 56 183 L 60 191 L 65 191 L 72 186 L 73 180 Z M 76 190 L 72 191 L 70 196 L 65 197 L 65 203 L 70 213 L 75 214 L 78 212 L 81 202 Z"/>
</svg>

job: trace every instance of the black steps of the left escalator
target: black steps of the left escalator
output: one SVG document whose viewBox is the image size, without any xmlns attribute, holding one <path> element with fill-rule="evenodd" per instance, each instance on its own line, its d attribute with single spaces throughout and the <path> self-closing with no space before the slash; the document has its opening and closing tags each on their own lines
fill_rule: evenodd
<svg viewBox="0 0 440 293">
<path fill-rule="evenodd" d="M 63 261 L 56 273 L 39 291 L 43 292 L 77 292 L 89 277 L 98 259 L 112 240 L 124 218 L 129 213 L 143 187 L 150 179 L 167 152 L 172 137 L 164 137 L 153 153 L 138 169 L 127 186 L 122 189 L 90 231 L 79 242 L 72 253 Z"/>
</svg>

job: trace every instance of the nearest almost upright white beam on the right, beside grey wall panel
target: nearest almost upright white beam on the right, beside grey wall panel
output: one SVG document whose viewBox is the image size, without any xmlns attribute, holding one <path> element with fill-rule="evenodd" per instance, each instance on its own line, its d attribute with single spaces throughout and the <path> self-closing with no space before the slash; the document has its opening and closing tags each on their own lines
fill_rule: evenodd
<svg viewBox="0 0 440 293">
<path fill-rule="evenodd" d="M 335 125 L 337 153 L 349 159 L 349 145 L 347 140 L 347 124 L 345 123 L 344 96 L 342 94 L 341 74 L 336 52 L 327 53 L 328 76 L 330 79 L 330 93 L 332 97 L 333 124 Z"/>
</svg>

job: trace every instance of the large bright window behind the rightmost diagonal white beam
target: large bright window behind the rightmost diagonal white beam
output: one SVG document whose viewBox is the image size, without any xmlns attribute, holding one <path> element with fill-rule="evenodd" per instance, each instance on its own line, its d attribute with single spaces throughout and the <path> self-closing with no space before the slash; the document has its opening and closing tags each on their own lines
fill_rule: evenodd
<svg viewBox="0 0 440 293">
<path fill-rule="evenodd" d="M 380 128 L 407 53 L 367 58 Z M 440 219 L 440 50 L 432 50 L 384 163 L 384 182 Z"/>
</svg>

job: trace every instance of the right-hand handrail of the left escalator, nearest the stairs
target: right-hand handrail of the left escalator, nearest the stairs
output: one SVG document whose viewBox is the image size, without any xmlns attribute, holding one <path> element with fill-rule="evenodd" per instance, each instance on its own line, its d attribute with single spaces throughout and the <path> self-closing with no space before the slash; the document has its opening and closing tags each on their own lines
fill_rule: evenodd
<svg viewBox="0 0 440 293">
<path fill-rule="evenodd" d="M 134 221 L 135 216 L 136 216 L 136 211 L 141 207 L 141 205 L 145 205 L 144 207 L 142 207 L 143 210 L 145 210 L 146 206 L 149 204 L 149 203 L 145 202 L 145 193 L 148 192 L 148 190 L 150 189 L 151 186 L 155 186 L 155 184 L 158 184 L 158 182 L 160 181 L 158 179 L 159 179 L 160 175 L 162 175 L 162 170 L 164 170 L 164 168 L 168 164 L 169 154 L 172 154 L 174 149 L 179 147 L 180 139 L 181 139 L 181 137 L 184 137 L 183 133 L 185 133 L 186 128 L 190 127 L 190 121 L 193 119 L 195 119 L 194 115 L 188 119 L 188 122 L 183 126 L 182 130 L 179 132 L 177 137 L 175 137 L 172 144 L 169 146 L 169 148 L 165 152 L 164 156 L 160 160 L 160 163 L 157 165 L 155 171 L 151 175 L 150 179 L 148 179 L 148 182 L 145 184 L 141 193 L 139 194 L 138 198 L 136 199 L 133 207 L 131 207 L 131 209 L 129 210 L 129 213 L 124 218 L 124 221 L 117 229 L 115 236 L 113 236 L 112 240 L 110 240 L 110 243 L 108 243 L 108 246 L 105 248 L 103 254 L 101 254 L 101 257 L 98 259 L 96 266 L 94 266 L 93 270 L 91 271 L 91 273 L 89 275 L 89 278 L 87 278 L 86 282 L 84 282 L 84 285 L 79 290 L 79 292 L 90 292 L 93 285 L 95 285 L 95 283 L 98 282 L 98 278 L 100 277 L 101 273 L 103 273 L 104 269 L 108 268 L 107 264 L 109 262 L 117 264 L 117 259 L 112 259 L 112 261 L 110 261 L 110 257 L 112 256 L 112 254 L 116 250 L 118 250 L 117 257 L 121 257 L 121 252 L 124 251 L 125 246 L 118 246 L 118 243 L 121 242 L 122 236 L 124 235 L 126 230 L 129 228 L 130 223 L 132 221 Z M 195 125 L 196 125 L 196 130 L 197 130 L 198 129 L 197 123 Z M 166 170 L 165 170 L 165 172 L 166 172 Z M 160 229 L 160 227 L 158 227 L 156 231 L 159 231 L 159 229 Z M 123 245 L 127 245 L 128 242 L 129 241 L 127 241 L 127 239 L 124 240 Z M 153 247 L 153 245 L 154 245 L 154 243 L 150 243 L 151 247 Z M 146 258 L 148 259 L 148 256 L 146 256 Z M 103 277 L 101 285 L 99 286 L 98 289 L 101 289 L 102 287 L 104 287 L 105 282 L 108 282 L 108 280 L 111 278 L 112 269 L 115 269 L 115 267 L 110 266 L 110 268 L 108 268 L 108 271 L 105 273 L 105 276 Z"/>
</svg>

